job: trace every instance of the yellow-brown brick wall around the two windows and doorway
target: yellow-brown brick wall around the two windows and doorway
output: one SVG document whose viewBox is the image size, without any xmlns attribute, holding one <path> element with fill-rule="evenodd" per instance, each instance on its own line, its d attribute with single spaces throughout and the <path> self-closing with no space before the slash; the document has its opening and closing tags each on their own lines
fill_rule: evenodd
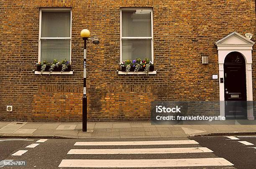
<svg viewBox="0 0 256 169">
<path fill-rule="evenodd" d="M 73 75 L 34 75 L 39 7 L 72 7 Z M 156 75 L 118 75 L 120 7 L 153 7 Z M 84 28 L 100 38 L 99 45 L 87 46 L 89 120 L 149 120 L 154 100 L 218 101 L 218 80 L 212 80 L 218 74 L 214 43 L 234 31 L 255 36 L 255 16 L 254 0 L 1 1 L 0 120 L 82 120 L 83 41 L 79 34 Z M 202 56 L 209 57 L 208 65 L 201 64 Z M 13 105 L 13 112 L 6 112 L 6 105 Z"/>
</svg>

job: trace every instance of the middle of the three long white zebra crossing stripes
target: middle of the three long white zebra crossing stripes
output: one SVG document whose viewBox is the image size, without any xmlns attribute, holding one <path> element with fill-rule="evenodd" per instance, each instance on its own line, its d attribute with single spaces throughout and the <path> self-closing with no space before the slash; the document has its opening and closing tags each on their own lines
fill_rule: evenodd
<svg viewBox="0 0 256 169">
<path fill-rule="evenodd" d="M 207 153 L 206 147 L 153 148 L 153 149 L 71 149 L 67 154 L 166 154 L 166 153 Z"/>
</svg>

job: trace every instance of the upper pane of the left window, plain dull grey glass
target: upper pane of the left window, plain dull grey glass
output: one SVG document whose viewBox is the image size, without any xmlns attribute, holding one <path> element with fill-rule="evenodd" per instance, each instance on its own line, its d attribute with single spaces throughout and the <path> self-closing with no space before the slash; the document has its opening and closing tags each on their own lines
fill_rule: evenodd
<svg viewBox="0 0 256 169">
<path fill-rule="evenodd" d="M 70 37 L 70 11 L 42 11 L 41 37 Z"/>
</svg>

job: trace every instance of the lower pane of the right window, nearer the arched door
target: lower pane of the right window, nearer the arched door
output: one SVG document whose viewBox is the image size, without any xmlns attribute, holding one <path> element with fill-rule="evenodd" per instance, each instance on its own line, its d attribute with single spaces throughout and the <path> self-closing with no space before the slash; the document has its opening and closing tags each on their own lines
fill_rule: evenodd
<svg viewBox="0 0 256 169">
<path fill-rule="evenodd" d="M 122 40 L 122 61 L 136 58 L 151 60 L 151 39 Z"/>
</svg>

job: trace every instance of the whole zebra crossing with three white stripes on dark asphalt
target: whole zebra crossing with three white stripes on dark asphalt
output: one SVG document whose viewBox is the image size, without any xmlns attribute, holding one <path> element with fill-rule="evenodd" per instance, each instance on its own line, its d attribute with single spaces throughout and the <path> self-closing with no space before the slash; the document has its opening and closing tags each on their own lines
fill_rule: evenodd
<svg viewBox="0 0 256 169">
<path fill-rule="evenodd" d="M 201 147 L 195 140 L 76 142 L 74 147 L 76 149 L 70 149 L 67 152 L 67 159 L 62 159 L 59 167 L 159 168 L 233 166 L 228 160 L 216 157 L 212 150 L 207 147 Z M 152 158 L 150 154 L 154 154 L 154 156 L 158 154 L 159 157 Z M 161 154 L 164 154 L 164 156 L 160 156 Z M 177 156 L 179 158 L 166 158 L 168 157 L 165 156 L 166 154 L 173 154 L 172 157 Z M 181 154 L 182 156 L 180 156 Z M 201 154 L 201 156 L 198 154 Z M 104 156 L 104 159 L 95 159 L 98 158 L 98 155 L 101 155 L 100 157 Z M 133 157 L 124 159 L 125 155 Z M 117 158 L 119 156 L 123 157 Z"/>
</svg>

